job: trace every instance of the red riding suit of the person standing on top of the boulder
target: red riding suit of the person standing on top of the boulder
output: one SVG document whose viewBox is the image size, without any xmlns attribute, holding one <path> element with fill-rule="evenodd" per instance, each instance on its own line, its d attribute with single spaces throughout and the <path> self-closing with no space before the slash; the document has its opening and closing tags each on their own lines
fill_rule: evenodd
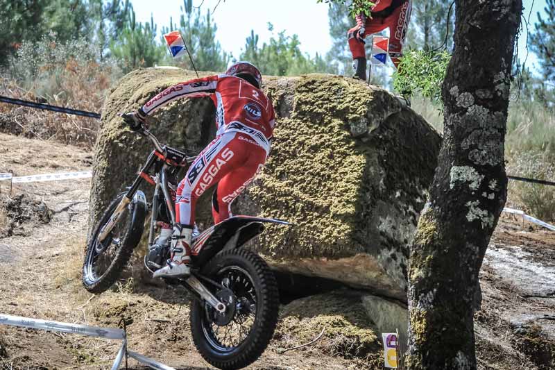
<svg viewBox="0 0 555 370">
<path fill-rule="evenodd" d="M 376 0 L 375 6 L 370 9 L 371 17 L 366 17 L 364 14 L 357 15 L 357 26 L 347 33 L 353 60 L 366 58 L 364 42 L 356 37 L 359 29 L 365 28 L 364 37 L 366 37 L 389 28 L 389 57 L 397 68 L 411 20 L 411 9 L 411 0 Z"/>
</svg>

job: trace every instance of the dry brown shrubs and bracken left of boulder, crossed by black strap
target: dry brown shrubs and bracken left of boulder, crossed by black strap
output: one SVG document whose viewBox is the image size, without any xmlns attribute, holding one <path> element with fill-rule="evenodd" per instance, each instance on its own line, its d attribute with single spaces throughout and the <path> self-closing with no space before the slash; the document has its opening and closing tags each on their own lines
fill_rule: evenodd
<svg viewBox="0 0 555 370">
<path fill-rule="evenodd" d="M 100 112 L 121 70 L 109 58 L 99 62 L 89 40 L 60 43 L 55 34 L 23 42 L 17 58 L 0 78 L 0 94 L 15 99 Z M 91 147 L 99 119 L 0 104 L 0 131 L 41 140 Z"/>
</svg>

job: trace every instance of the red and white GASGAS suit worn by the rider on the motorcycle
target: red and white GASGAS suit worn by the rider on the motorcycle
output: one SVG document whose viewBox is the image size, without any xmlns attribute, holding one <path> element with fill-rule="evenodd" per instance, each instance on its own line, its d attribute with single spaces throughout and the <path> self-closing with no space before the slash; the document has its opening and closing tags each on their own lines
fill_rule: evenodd
<svg viewBox="0 0 555 370">
<path fill-rule="evenodd" d="M 194 224 L 198 197 L 216 183 L 214 222 L 230 217 L 232 201 L 266 162 L 275 125 L 273 106 L 264 92 L 242 78 L 225 74 L 171 86 L 148 101 L 140 113 L 148 116 L 175 99 L 207 95 L 216 106 L 218 131 L 179 183 L 176 221 L 183 225 Z"/>
</svg>

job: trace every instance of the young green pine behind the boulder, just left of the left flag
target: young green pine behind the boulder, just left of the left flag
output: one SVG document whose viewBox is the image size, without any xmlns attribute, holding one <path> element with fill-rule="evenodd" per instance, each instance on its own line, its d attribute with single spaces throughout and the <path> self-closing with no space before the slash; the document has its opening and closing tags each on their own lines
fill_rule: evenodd
<svg viewBox="0 0 555 370">
<path fill-rule="evenodd" d="M 129 22 L 121 31 L 119 39 L 110 44 L 110 51 L 119 60 L 123 72 L 138 67 L 152 67 L 160 61 L 164 48 L 156 42 L 156 26 L 151 23 L 135 22 L 135 12 L 131 10 Z"/>
</svg>

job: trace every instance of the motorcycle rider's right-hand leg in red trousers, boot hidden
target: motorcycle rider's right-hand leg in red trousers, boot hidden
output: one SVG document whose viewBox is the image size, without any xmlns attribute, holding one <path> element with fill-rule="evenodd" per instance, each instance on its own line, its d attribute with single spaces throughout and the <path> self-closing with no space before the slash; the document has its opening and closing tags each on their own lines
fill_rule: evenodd
<svg viewBox="0 0 555 370">
<path fill-rule="evenodd" d="M 266 162 L 266 151 L 246 135 L 239 135 L 244 142 L 241 143 L 248 152 L 244 165 L 223 176 L 218 187 L 212 194 L 212 216 L 214 223 L 231 217 L 231 203 L 243 192 L 253 178 L 262 170 Z"/>
</svg>

